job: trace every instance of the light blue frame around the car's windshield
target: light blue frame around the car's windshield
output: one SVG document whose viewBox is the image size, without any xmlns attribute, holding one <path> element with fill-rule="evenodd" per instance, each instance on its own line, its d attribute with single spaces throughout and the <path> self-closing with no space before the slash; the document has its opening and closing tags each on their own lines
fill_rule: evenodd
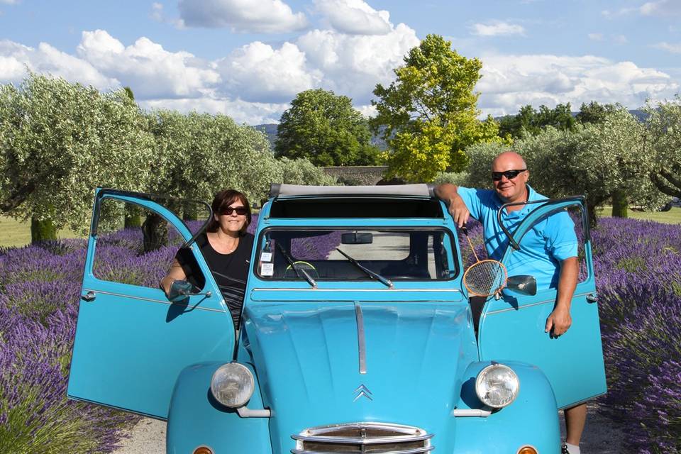
<svg viewBox="0 0 681 454">
<path fill-rule="evenodd" d="M 358 225 L 357 223 L 353 223 L 352 225 L 331 225 L 331 226 L 322 226 L 322 225 L 314 225 L 314 226 L 300 226 L 300 225 L 279 225 L 279 226 L 267 226 L 265 228 L 262 228 L 262 230 L 258 233 L 258 237 L 255 240 L 255 243 L 253 245 L 253 263 L 252 263 L 252 272 L 254 277 L 258 278 L 260 282 L 304 282 L 304 279 L 302 278 L 289 278 L 289 279 L 284 279 L 281 277 L 268 277 L 268 276 L 262 276 L 260 274 L 260 253 L 262 250 L 260 249 L 262 243 L 265 241 L 264 236 L 272 231 L 336 231 L 336 230 L 341 230 L 341 231 L 381 231 L 381 232 L 399 232 L 399 233 L 410 233 L 410 232 L 416 232 L 416 231 L 426 231 L 426 232 L 441 232 L 445 237 L 449 238 L 449 252 L 445 249 L 443 250 L 443 254 L 447 255 L 450 253 L 451 254 L 451 264 L 453 265 L 453 270 L 454 272 L 450 273 L 448 277 L 439 277 L 439 278 L 407 278 L 407 279 L 400 279 L 400 278 L 390 278 L 390 280 L 394 282 L 453 282 L 457 279 L 460 279 L 460 276 L 462 274 L 461 270 L 461 265 L 460 265 L 460 257 L 458 256 L 458 247 L 457 243 L 455 243 L 455 235 L 451 231 L 448 226 L 444 226 L 442 224 L 439 225 L 419 225 L 419 226 L 414 226 L 414 225 L 400 225 L 400 226 L 386 226 L 386 225 L 376 225 L 376 224 L 362 224 Z M 446 240 L 445 240 L 446 241 Z M 411 251 L 410 251 L 411 255 Z M 333 260 L 336 261 L 336 260 Z M 338 260 L 338 261 L 345 261 L 343 260 Z M 361 261 L 361 260 L 358 260 Z M 397 260 L 396 260 L 397 261 Z M 355 279 L 355 278 L 338 278 L 338 277 L 319 277 L 315 279 L 318 284 L 321 284 L 322 282 L 375 282 L 376 284 L 380 284 L 376 279 L 366 276 L 361 279 Z M 382 284 L 380 284 L 382 286 Z"/>
</svg>

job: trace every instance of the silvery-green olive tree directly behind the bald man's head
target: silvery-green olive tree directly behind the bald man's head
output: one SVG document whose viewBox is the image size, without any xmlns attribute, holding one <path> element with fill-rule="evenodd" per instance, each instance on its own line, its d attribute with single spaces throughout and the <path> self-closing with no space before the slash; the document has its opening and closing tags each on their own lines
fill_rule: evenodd
<svg viewBox="0 0 681 454">
<path fill-rule="evenodd" d="M 644 153 L 643 126 L 624 109 L 611 112 L 598 124 L 577 125 L 574 131 L 546 127 L 518 140 L 530 170 L 529 184 L 550 197 L 584 194 L 595 222 L 596 206 L 612 200 L 615 216 L 626 216 L 629 204 L 654 208 L 660 192 L 650 181 L 655 160 Z M 503 147 L 476 145 L 470 156 L 470 184 L 491 187 L 492 160 Z"/>
</svg>

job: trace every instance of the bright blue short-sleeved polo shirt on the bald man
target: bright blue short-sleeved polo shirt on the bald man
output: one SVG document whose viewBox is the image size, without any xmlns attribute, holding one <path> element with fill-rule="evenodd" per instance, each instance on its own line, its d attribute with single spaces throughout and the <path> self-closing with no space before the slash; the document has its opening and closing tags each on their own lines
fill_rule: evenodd
<svg viewBox="0 0 681 454">
<path fill-rule="evenodd" d="M 529 184 L 528 201 L 546 200 Z M 482 223 L 485 236 L 487 256 L 494 260 L 502 260 L 509 239 L 497 222 L 497 211 L 503 202 L 492 189 L 472 189 L 458 187 L 458 193 L 466 204 L 470 215 Z M 502 212 L 502 223 L 513 233 L 527 214 L 537 204 L 529 204 L 522 209 Z M 532 275 L 537 279 L 538 289 L 558 287 L 560 262 L 570 257 L 577 257 L 577 236 L 575 223 L 567 211 L 560 211 L 553 216 L 543 218 L 534 224 L 520 242 L 521 249 L 513 250 L 506 261 L 509 276 Z"/>
</svg>

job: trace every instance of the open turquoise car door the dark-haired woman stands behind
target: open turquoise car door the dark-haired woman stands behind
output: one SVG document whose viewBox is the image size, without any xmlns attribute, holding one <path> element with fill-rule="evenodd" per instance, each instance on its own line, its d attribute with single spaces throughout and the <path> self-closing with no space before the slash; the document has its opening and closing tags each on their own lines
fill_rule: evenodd
<svg viewBox="0 0 681 454">
<path fill-rule="evenodd" d="M 143 228 L 106 233 L 104 214 L 147 219 Z M 153 221 L 153 222 L 151 222 Z M 143 229 L 147 234 L 143 235 Z M 154 233 L 155 232 L 155 233 Z M 159 244 L 144 253 L 150 238 Z M 189 228 L 151 196 L 97 189 L 88 239 L 68 396 L 166 419 L 185 367 L 231 361 L 231 314 L 199 248 L 190 248 L 203 288 L 172 303 L 159 287 Z M 165 246 L 161 246 L 166 244 Z M 148 245 L 147 245 L 148 246 Z M 209 383 L 206 383 L 208 389 Z"/>
</svg>

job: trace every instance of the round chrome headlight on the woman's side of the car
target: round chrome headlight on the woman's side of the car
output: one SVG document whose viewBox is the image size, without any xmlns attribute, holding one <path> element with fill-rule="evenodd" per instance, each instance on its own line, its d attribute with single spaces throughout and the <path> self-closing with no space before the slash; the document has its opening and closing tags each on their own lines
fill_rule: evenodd
<svg viewBox="0 0 681 454">
<path fill-rule="evenodd" d="M 255 381 L 248 367 L 238 362 L 223 364 L 215 371 L 211 379 L 213 397 L 230 408 L 244 406 L 253 394 Z"/>
</svg>

